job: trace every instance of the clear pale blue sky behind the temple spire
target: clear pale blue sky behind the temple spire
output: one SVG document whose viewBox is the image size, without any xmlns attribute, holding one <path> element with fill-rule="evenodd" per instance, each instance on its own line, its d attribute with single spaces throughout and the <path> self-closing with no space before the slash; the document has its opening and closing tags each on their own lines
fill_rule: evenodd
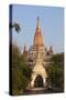
<svg viewBox="0 0 66 100">
<path fill-rule="evenodd" d="M 18 34 L 12 30 L 13 42 L 16 42 L 23 49 L 24 44 L 30 48 L 36 29 L 37 17 L 41 21 L 41 30 L 44 39 L 44 46 L 48 49 L 53 46 L 54 52 L 64 51 L 64 9 L 58 7 L 41 6 L 13 6 L 12 22 L 21 26 L 21 32 Z"/>
</svg>

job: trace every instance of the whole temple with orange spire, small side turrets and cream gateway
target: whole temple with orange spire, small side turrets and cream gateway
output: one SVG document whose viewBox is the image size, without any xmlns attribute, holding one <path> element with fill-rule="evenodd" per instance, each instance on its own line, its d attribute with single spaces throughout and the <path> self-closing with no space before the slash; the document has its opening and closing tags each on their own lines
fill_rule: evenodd
<svg viewBox="0 0 66 100">
<path fill-rule="evenodd" d="M 53 47 L 50 50 L 45 48 L 40 18 L 37 18 L 37 24 L 34 34 L 33 46 L 30 47 L 29 51 L 24 47 L 23 53 L 28 54 L 28 62 L 32 69 L 32 78 L 28 88 L 46 88 L 48 87 L 48 64 L 53 54 Z"/>
</svg>

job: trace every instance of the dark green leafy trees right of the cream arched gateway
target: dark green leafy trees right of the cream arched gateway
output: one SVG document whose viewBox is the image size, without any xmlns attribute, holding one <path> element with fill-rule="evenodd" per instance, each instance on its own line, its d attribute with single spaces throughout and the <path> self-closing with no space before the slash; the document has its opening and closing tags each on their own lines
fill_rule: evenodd
<svg viewBox="0 0 66 100">
<path fill-rule="evenodd" d="M 64 53 L 54 54 L 48 69 L 51 84 L 64 89 Z"/>
</svg>

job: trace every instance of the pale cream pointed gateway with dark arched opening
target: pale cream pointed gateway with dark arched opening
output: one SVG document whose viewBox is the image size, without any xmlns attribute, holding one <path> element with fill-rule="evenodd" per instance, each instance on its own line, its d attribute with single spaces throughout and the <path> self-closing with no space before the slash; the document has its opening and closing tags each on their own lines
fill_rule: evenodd
<svg viewBox="0 0 66 100">
<path fill-rule="evenodd" d="M 42 64 L 42 59 L 37 59 L 32 73 L 31 88 L 46 87 L 47 72 Z"/>
</svg>

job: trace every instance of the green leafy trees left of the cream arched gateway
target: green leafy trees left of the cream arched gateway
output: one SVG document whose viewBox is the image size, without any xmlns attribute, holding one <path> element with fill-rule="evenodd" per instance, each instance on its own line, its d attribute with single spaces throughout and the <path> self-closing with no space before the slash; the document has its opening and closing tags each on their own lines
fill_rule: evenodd
<svg viewBox="0 0 66 100">
<path fill-rule="evenodd" d="M 24 54 L 18 46 L 12 46 L 12 93 L 23 92 L 31 80 L 32 70 L 29 68 Z"/>
</svg>

